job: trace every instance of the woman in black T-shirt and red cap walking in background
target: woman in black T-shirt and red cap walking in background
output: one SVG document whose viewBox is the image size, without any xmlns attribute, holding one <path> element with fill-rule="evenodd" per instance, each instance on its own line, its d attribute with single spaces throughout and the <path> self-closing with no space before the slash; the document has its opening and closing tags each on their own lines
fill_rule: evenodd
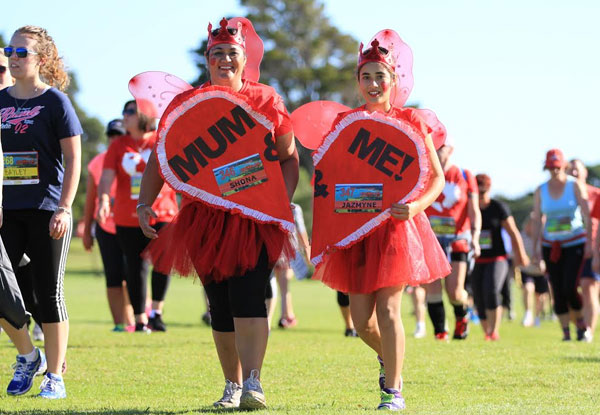
<svg viewBox="0 0 600 415">
<path fill-rule="evenodd" d="M 504 203 L 490 197 L 492 180 L 487 174 L 475 176 L 479 190 L 479 208 L 481 210 L 481 234 L 479 246 L 481 255 L 475 258 L 472 284 L 473 298 L 477 314 L 485 333 L 485 339 L 500 339 L 502 321 L 502 287 L 508 278 L 507 250 L 502 238 L 505 229 L 511 239 L 515 266 L 527 266 L 529 258 L 525 253 L 523 241 L 510 209 Z"/>
</svg>

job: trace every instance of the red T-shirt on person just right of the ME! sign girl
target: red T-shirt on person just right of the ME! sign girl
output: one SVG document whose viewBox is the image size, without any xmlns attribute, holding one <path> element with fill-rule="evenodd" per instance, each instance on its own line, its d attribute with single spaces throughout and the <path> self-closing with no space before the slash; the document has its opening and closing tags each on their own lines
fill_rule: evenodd
<svg viewBox="0 0 600 415">
<path fill-rule="evenodd" d="M 431 227 L 437 236 L 451 237 L 470 232 L 467 202 L 472 194 L 479 193 L 475 177 L 455 165 L 446 170 L 445 176 L 444 190 L 425 210 Z"/>
</svg>

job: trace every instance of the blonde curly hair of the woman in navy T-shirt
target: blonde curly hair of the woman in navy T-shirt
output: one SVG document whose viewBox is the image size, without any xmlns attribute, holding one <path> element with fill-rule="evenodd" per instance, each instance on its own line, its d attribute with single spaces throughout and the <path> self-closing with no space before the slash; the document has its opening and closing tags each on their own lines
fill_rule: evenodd
<svg viewBox="0 0 600 415">
<path fill-rule="evenodd" d="M 44 64 L 40 66 L 40 78 L 50 86 L 61 91 L 66 90 L 70 82 L 69 75 L 65 71 L 62 58 L 58 56 L 54 39 L 46 29 L 39 26 L 23 26 L 15 30 L 14 34 L 27 36 L 37 41 L 34 49 L 39 58 L 45 60 Z"/>
</svg>

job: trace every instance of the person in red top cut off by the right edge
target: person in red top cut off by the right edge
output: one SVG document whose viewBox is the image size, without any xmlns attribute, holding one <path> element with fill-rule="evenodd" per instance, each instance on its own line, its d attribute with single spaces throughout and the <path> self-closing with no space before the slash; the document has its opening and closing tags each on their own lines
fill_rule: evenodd
<svg viewBox="0 0 600 415">
<path fill-rule="evenodd" d="M 583 162 L 579 159 L 573 159 L 569 162 L 567 174 L 575 177 L 577 181 L 585 189 L 588 198 L 588 207 L 590 212 L 594 205 L 600 200 L 600 189 L 596 186 L 587 184 L 588 171 Z M 598 233 L 598 219 L 591 217 L 592 222 L 592 237 L 587 241 L 588 245 L 593 246 Z M 583 299 L 583 319 L 586 327 L 590 330 L 589 340 L 592 339 L 596 331 L 596 323 L 598 322 L 598 314 L 600 313 L 600 273 L 592 270 L 592 258 L 586 258 L 583 265 L 583 270 L 579 276 L 581 284 L 581 294 Z"/>
</svg>

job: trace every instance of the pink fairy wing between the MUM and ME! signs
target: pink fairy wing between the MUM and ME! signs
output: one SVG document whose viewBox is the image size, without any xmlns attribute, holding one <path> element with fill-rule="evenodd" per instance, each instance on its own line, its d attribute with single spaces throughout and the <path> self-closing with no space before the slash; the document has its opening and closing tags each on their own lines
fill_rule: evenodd
<svg viewBox="0 0 600 415">
<path fill-rule="evenodd" d="M 333 101 L 313 101 L 304 104 L 291 115 L 294 135 L 304 147 L 315 150 L 331 129 L 335 117 L 348 110 L 349 107 Z"/>
</svg>

